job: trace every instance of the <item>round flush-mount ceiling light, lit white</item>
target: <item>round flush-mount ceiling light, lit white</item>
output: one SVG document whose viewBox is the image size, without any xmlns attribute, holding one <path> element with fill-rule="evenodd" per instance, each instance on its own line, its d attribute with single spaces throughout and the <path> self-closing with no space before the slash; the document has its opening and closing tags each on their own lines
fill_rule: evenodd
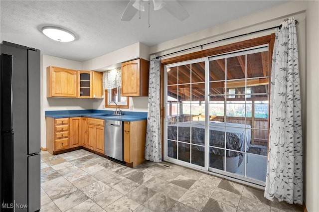
<svg viewBox="0 0 319 212">
<path fill-rule="evenodd" d="M 75 39 L 72 32 L 57 26 L 44 26 L 41 30 L 43 34 L 59 42 L 71 42 Z"/>
</svg>

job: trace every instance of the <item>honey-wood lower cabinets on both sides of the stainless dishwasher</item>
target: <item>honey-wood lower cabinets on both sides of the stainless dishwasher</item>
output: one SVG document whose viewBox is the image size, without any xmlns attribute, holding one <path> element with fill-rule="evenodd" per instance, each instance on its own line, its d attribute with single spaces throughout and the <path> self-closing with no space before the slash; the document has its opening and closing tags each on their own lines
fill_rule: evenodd
<svg viewBox="0 0 319 212">
<path fill-rule="evenodd" d="M 123 123 L 123 159 L 128 167 L 135 167 L 145 161 L 147 120 Z M 53 155 L 79 149 L 81 146 L 104 154 L 104 139 L 104 119 L 46 117 L 46 147 Z"/>
</svg>

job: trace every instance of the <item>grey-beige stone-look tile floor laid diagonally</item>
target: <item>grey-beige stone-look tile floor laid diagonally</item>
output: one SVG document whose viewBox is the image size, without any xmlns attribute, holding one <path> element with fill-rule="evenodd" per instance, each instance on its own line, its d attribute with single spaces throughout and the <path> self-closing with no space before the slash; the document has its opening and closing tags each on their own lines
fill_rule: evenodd
<svg viewBox="0 0 319 212">
<path fill-rule="evenodd" d="M 129 168 L 83 149 L 55 156 L 41 152 L 41 212 L 303 211 L 263 196 L 166 162 Z"/>
</svg>

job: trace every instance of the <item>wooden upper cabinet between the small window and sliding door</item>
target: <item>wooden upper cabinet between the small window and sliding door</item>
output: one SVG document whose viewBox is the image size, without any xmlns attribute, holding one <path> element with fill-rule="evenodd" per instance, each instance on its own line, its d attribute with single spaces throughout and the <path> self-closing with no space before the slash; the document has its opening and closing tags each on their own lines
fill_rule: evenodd
<svg viewBox="0 0 319 212">
<path fill-rule="evenodd" d="M 122 63 L 123 97 L 146 97 L 149 94 L 149 67 L 150 62 L 136 59 Z"/>
</svg>

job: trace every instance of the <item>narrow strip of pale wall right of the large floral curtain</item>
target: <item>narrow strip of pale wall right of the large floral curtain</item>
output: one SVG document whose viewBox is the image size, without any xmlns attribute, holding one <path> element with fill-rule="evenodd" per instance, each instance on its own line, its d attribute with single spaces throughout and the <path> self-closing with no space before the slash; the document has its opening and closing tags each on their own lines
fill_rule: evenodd
<svg viewBox="0 0 319 212">
<path fill-rule="evenodd" d="M 319 1 L 308 1 L 306 75 L 306 142 L 304 145 L 305 202 L 309 212 L 319 211 Z"/>
</svg>

